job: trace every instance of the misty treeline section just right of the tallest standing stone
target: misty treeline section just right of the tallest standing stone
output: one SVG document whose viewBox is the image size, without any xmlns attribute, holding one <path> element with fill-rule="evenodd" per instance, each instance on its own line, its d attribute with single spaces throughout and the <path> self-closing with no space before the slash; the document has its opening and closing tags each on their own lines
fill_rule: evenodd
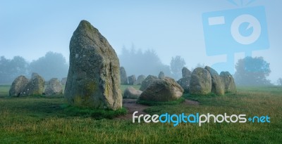
<svg viewBox="0 0 282 144">
<path fill-rule="evenodd" d="M 185 65 L 185 60 L 180 56 L 171 58 L 171 65 L 164 65 L 154 50 L 136 50 L 134 46 L 130 49 L 123 47 L 118 58 L 128 76 L 135 74 L 136 77 L 140 74 L 157 76 L 162 71 L 168 77 L 180 79 L 181 70 Z"/>
</svg>

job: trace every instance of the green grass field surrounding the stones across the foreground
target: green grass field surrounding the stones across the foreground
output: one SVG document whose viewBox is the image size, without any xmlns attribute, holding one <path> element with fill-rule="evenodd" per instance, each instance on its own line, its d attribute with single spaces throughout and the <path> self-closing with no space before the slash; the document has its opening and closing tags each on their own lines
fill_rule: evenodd
<svg viewBox="0 0 282 144">
<path fill-rule="evenodd" d="M 124 90 L 126 86 L 121 86 Z M 135 86 L 135 88 L 138 88 Z M 132 119 L 95 119 L 73 113 L 63 96 L 9 98 L 0 86 L 0 143 L 282 143 L 282 87 L 238 87 L 226 96 L 189 96 L 200 105 L 157 105 L 149 114 L 269 115 L 270 123 L 149 123 Z"/>
</svg>

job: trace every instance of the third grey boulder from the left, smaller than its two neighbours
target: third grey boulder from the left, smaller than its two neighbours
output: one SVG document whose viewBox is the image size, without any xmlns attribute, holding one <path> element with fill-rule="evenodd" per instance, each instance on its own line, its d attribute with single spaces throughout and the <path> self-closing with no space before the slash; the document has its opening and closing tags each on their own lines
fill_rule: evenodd
<svg viewBox="0 0 282 144">
<path fill-rule="evenodd" d="M 63 88 L 59 79 L 52 78 L 44 91 L 45 95 L 59 95 L 63 93 Z"/>
</svg>

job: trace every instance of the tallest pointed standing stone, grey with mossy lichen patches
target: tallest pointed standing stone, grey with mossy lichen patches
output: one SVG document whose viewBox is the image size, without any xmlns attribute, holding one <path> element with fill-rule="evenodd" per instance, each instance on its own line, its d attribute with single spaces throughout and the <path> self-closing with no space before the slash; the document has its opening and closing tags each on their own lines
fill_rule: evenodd
<svg viewBox="0 0 282 144">
<path fill-rule="evenodd" d="M 71 37 L 66 100 L 80 107 L 121 108 L 119 68 L 116 52 L 106 38 L 82 20 Z"/>
</svg>

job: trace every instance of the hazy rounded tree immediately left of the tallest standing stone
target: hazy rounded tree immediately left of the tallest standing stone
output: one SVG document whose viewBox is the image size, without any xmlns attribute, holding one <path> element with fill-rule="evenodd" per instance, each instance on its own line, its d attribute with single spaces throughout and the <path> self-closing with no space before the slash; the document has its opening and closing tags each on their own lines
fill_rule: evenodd
<svg viewBox="0 0 282 144">
<path fill-rule="evenodd" d="M 61 53 L 54 53 L 49 51 L 45 56 L 38 60 L 33 60 L 30 63 L 30 71 L 37 72 L 44 77 L 45 80 L 51 78 L 61 79 L 68 74 L 68 65 L 66 58 Z"/>
</svg>

